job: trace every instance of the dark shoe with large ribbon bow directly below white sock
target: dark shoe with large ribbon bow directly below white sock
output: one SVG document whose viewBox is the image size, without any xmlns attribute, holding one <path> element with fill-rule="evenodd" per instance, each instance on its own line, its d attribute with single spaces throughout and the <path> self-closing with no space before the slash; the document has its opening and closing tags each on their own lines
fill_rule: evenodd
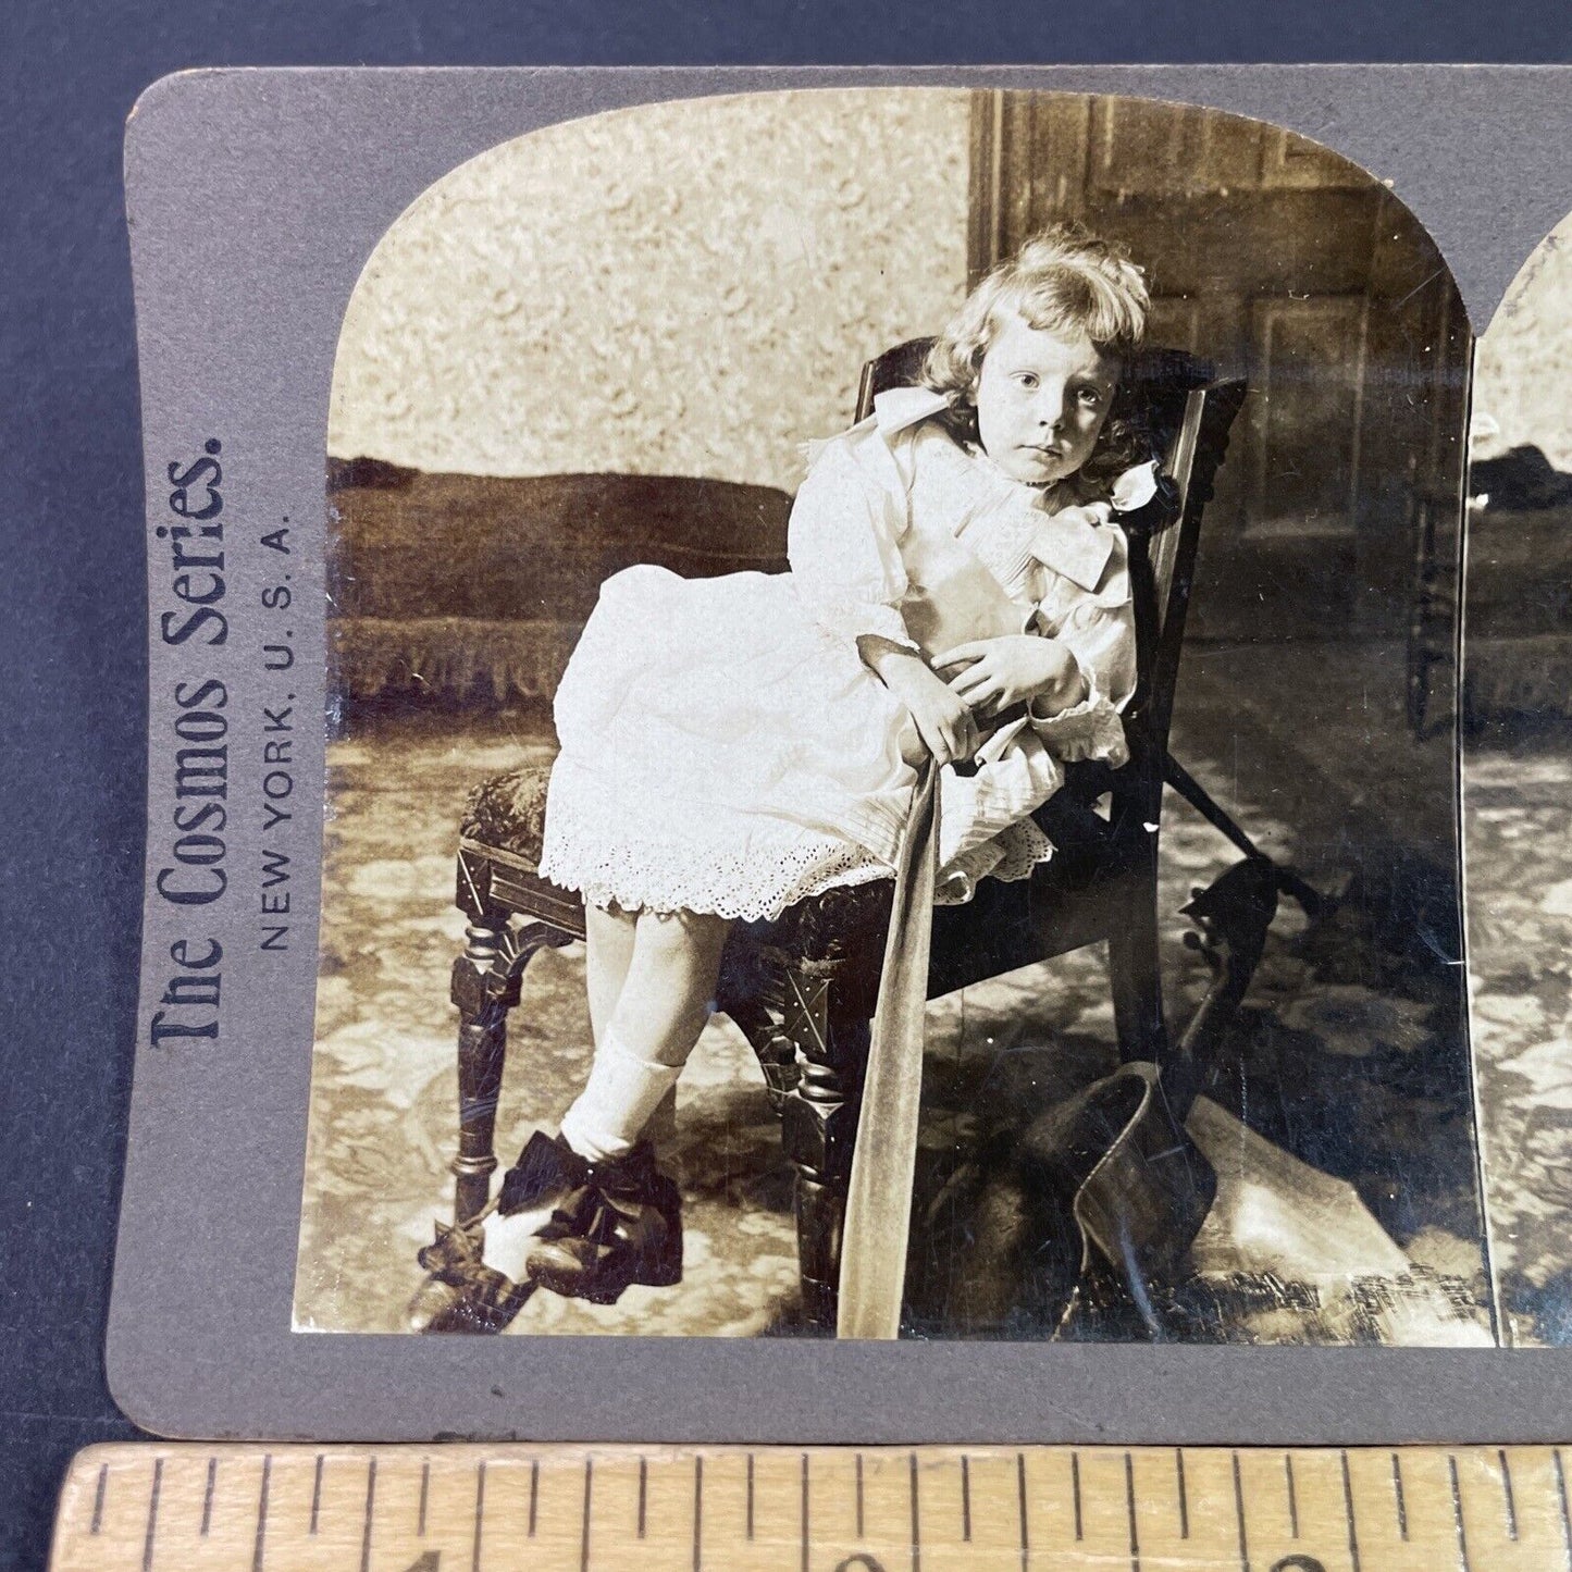
<svg viewBox="0 0 1572 1572">
<path fill-rule="evenodd" d="M 558 1160 L 578 1184 L 558 1204 L 530 1251 L 538 1287 L 591 1305 L 613 1305 L 635 1283 L 682 1280 L 682 1198 L 643 1143 L 626 1157 L 590 1163 L 558 1138 Z"/>
</svg>

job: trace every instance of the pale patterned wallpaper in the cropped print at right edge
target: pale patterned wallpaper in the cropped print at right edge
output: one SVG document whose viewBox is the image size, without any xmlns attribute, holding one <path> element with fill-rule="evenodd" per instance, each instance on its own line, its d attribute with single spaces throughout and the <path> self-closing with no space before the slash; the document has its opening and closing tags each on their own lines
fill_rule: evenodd
<svg viewBox="0 0 1572 1572">
<path fill-rule="evenodd" d="M 1475 410 L 1500 426 L 1481 456 L 1533 442 L 1572 470 L 1572 214 L 1523 264 L 1479 340 Z"/>
</svg>

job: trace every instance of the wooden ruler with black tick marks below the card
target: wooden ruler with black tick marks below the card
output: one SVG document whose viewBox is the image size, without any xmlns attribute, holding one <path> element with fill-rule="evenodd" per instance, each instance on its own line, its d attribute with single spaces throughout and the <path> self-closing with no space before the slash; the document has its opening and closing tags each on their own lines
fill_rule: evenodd
<svg viewBox="0 0 1572 1572">
<path fill-rule="evenodd" d="M 1572 1572 L 1550 1446 L 94 1446 L 53 1572 Z"/>
</svg>

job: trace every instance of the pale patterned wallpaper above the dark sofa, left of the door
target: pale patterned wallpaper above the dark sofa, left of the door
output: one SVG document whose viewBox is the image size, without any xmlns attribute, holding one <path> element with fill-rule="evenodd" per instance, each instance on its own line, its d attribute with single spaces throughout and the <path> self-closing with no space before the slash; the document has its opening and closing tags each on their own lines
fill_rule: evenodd
<svg viewBox="0 0 1572 1572">
<path fill-rule="evenodd" d="M 366 264 L 329 451 L 795 490 L 861 362 L 960 303 L 967 126 L 959 91 L 772 93 L 481 154 Z"/>
</svg>

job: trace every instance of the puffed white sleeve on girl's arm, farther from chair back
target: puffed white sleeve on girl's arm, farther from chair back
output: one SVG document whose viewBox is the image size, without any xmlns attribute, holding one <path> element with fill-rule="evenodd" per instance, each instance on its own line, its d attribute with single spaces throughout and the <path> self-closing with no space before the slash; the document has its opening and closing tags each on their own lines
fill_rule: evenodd
<svg viewBox="0 0 1572 1572">
<path fill-rule="evenodd" d="M 905 531 L 905 492 L 883 442 L 858 428 L 817 446 L 791 511 L 786 553 L 803 605 L 821 626 L 847 640 L 877 635 L 916 649 L 901 618 L 907 590 L 899 539 Z M 888 479 L 885 479 L 885 473 Z"/>
</svg>

